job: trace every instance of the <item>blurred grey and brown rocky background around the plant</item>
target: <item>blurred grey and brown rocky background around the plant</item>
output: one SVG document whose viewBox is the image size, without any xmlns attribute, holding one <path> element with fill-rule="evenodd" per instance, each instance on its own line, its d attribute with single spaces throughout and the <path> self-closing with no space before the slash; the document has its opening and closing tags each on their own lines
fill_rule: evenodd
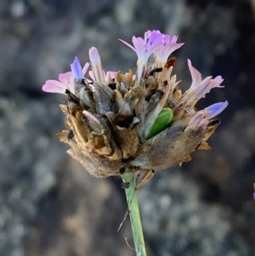
<svg viewBox="0 0 255 256">
<path fill-rule="evenodd" d="M 228 100 L 209 143 L 139 192 L 149 256 L 255 255 L 255 1 L 1 0 L 0 255 L 135 255 L 118 177 L 96 179 L 55 134 L 64 95 L 41 91 L 98 48 L 105 70 L 135 68 L 131 42 L 147 29 L 179 35 L 174 72 L 187 58 L 222 75 L 199 107 Z"/>
</svg>

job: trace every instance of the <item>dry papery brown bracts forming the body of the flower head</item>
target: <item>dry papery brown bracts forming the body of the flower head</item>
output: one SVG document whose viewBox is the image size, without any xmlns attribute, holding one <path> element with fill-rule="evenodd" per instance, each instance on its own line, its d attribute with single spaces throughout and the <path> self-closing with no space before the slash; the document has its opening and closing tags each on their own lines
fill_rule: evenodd
<svg viewBox="0 0 255 256">
<path fill-rule="evenodd" d="M 171 65 L 170 65 L 171 64 Z M 120 175 L 120 169 L 161 170 L 191 160 L 195 149 L 210 149 L 205 140 L 219 120 L 208 126 L 186 129 L 196 108 L 177 107 L 182 96 L 176 76 L 171 76 L 175 61 L 164 68 L 149 70 L 135 83 L 133 72 L 118 72 L 110 84 L 76 81 L 76 94 L 66 90 L 68 105 L 66 129 L 58 133 L 69 144 L 68 153 L 96 177 Z M 174 121 L 163 132 L 147 140 L 157 116 L 164 107 L 174 111 Z"/>
</svg>

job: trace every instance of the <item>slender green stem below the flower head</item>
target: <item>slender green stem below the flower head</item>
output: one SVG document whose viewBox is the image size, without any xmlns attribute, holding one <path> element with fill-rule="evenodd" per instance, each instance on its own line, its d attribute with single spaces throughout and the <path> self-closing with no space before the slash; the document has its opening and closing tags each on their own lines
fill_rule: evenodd
<svg viewBox="0 0 255 256">
<path fill-rule="evenodd" d="M 127 168 L 124 174 L 122 174 L 122 179 L 125 183 L 130 183 L 129 188 L 126 188 L 126 197 L 128 201 L 129 216 L 135 241 L 136 256 L 146 256 L 145 243 L 143 239 L 143 228 L 140 218 L 138 199 L 136 196 L 134 172 Z"/>
</svg>

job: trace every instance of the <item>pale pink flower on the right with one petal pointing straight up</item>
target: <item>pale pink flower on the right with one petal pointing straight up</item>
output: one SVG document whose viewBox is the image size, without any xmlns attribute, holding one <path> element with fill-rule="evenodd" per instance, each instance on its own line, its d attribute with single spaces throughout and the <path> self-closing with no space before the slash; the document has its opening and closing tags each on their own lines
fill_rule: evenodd
<svg viewBox="0 0 255 256">
<path fill-rule="evenodd" d="M 192 84 L 191 87 L 182 95 L 180 100 L 175 105 L 177 107 L 194 107 L 196 102 L 201 98 L 205 97 L 205 94 L 209 93 L 210 90 L 214 87 L 224 87 L 220 86 L 224 79 L 219 75 L 212 79 L 212 77 L 206 77 L 202 80 L 201 73 L 196 70 L 191 64 L 191 60 L 188 59 L 187 63 L 189 65 L 189 71 L 191 72 Z"/>
</svg>

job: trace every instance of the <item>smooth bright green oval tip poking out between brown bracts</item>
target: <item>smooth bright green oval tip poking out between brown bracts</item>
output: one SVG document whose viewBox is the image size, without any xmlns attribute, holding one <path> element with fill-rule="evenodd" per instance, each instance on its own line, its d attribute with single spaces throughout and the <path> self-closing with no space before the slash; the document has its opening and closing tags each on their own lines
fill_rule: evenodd
<svg viewBox="0 0 255 256">
<path fill-rule="evenodd" d="M 173 110 L 169 107 L 165 107 L 157 116 L 155 123 L 150 129 L 147 140 L 156 136 L 158 133 L 162 132 L 171 122 L 173 121 Z"/>
</svg>

